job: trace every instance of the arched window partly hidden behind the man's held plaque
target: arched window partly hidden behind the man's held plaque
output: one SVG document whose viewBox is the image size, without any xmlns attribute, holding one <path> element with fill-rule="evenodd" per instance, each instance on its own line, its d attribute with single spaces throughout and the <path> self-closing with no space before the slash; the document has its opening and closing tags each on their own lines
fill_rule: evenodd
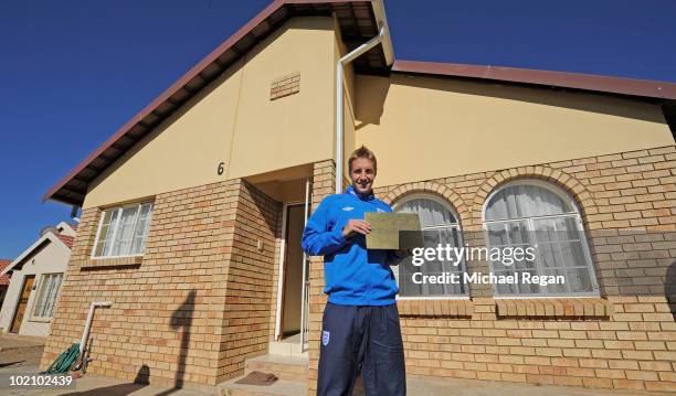
<svg viewBox="0 0 676 396">
<path fill-rule="evenodd" d="M 457 215 L 444 200 L 431 194 L 414 194 L 398 202 L 394 212 L 418 213 L 423 231 L 425 247 L 435 248 L 441 244 L 452 247 L 462 247 L 463 240 Z M 402 260 L 394 269 L 399 282 L 399 297 L 401 298 L 440 298 L 466 297 L 467 287 L 463 274 L 465 263 L 456 266 L 451 260 L 425 260 L 414 266 L 411 258 Z M 455 274 L 458 282 L 435 282 L 430 277 L 448 279 Z M 426 281 L 423 281 L 426 280 Z"/>
</svg>

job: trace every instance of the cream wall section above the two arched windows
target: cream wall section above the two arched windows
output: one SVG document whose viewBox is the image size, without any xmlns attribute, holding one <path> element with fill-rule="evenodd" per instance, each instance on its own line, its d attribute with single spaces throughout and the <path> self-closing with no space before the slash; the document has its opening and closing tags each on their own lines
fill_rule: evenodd
<svg viewBox="0 0 676 396">
<path fill-rule="evenodd" d="M 376 152 L 378 185 L 674 143 L 659 107 L 635 100 L 401 74 L 356 84 L 355 146 Z"/>
</svg>

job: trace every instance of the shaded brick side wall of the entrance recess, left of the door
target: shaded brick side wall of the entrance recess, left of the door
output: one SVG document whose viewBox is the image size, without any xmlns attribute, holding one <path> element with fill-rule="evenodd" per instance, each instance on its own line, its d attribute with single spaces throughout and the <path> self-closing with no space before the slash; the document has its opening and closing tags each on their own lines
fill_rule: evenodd
<svg viewBox="0 0 676 396">
<path fill-rule="evenodd" d="M 230 193 L 218 382 L 244 374 L 244 361 L 267 352 L 277 227 L 282 204 L 242 180 Z"/>
</svg>

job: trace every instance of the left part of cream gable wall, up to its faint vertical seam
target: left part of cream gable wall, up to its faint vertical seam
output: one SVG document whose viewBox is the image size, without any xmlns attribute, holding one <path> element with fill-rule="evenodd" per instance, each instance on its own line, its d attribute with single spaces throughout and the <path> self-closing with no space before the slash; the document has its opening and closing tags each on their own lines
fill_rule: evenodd
<svg viewBox="0 0 676 396">
<path fill-rule="evenodd" d="M 93 183 L 83 207 L 102 206 L 225 178 L 241 68 L 236 66 L 127 151 Z"/>
</svg>

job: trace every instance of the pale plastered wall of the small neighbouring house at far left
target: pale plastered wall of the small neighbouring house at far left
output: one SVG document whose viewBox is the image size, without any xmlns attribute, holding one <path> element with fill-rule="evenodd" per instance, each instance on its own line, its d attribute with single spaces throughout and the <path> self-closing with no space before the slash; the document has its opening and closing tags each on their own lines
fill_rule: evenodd
<svg viewBox="0 0 676 396">
<path fill-rule="evenodd" d="M 54 239 L 56 237 L 54 237 Z M 0 310 L 0 328 L 2 328 L 2 332 L 9 331 L 19 302 L 24 277 L 28 275 L 35 275 L 35 281 L 33 283 L 34 289 L 29 297 L 25 314 L 19 328 L 19 334 L 36 336 L 46 336 L 50 334 L 51 320 L 34 318 L 33 309 L 42 282 L 42 275 L 65 272 L 70 257 L 71 249 L 64 244 L 59 240 L 47 242 L 44 248 L 32 257 L 29 256 L 27 258 L 21 270 L 13 271 L 4 302 L 2 303 L 2 309 Z"/>
</svg>

